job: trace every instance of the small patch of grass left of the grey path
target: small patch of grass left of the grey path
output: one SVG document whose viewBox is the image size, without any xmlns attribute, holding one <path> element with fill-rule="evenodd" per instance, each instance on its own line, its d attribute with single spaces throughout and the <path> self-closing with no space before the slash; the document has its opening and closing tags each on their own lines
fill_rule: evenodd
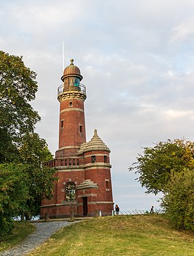
<svg viewBox="0 0 194 256">
<path fill-rule="evenodd" d="M 22 242 L 27 235 L 35 230 L 29 222 L 14 221 L 14 229 L 10 235 L 6 235 L 0 242 L 0 252 Z"/>
</svg>

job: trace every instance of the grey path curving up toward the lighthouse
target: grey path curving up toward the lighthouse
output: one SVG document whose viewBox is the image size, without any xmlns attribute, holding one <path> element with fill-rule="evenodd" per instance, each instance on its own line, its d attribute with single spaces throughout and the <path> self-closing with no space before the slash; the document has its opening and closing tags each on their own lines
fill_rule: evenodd
<svg viewBox="0 0 194 256">
<path fill-rule="evenodd" d="M 55 231 L 72 225 L 74 222 L 67 221 L 53 221 L 53 222 L 34 222 L 36 231 L 31 233 L 27 239 L 20 245 L 15 246 L 7 251 L 0 253 L 1 256 L 22 256 L 33 251 L 40 246 L 45 240 L 51 237 Z"/>
</svg>

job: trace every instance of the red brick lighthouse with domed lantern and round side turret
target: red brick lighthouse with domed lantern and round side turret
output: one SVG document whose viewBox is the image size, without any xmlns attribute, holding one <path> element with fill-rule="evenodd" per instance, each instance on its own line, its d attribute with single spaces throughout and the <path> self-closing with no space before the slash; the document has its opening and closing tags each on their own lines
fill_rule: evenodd
<svg viewBox="0 0 194 256">
<path fill-rule="evenodd" d="M 70 60 L 61 77 L 63 84 L 58 88 L 59 149 L 55 159 L 44 163 L 57 169 L 53 199 L 42 201 L 40 217 L 48 213 L 51 218 L 70 216 L 111 215 L 113 196 L 111 186 L 111 164 L 107 145 L 94 136 L 86 142 L 84 101 L 85 86 L 77 66 Z"/>
</svg>

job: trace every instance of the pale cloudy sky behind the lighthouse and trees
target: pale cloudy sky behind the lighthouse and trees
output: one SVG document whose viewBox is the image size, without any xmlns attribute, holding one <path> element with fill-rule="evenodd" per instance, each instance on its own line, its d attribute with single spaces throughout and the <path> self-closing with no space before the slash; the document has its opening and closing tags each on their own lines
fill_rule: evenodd
<svg viewBox="0 0 194 256">
<path fill-rule="evenodd" d="M 0 0 L 0 49 L 23 55 L 38 81 L 36 132 L 58 149 L 64 64 L 86 86 L 87 141 L 111 149 L 113 201 L 121 211 L 159 207 L 128 168 L 143 147 L 194 140 L 193 0 Z"/>
</svg>

